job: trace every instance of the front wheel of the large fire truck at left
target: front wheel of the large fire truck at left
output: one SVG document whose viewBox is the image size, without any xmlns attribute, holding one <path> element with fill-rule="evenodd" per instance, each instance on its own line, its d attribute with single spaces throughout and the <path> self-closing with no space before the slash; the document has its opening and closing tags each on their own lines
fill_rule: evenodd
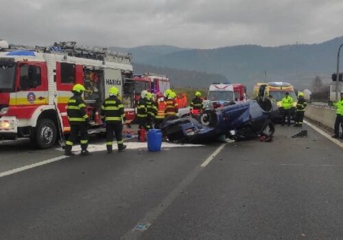
<svg viewBox="0 0 343 240">
<path fill-rule="evenodd" d="M 52 147 L 56 143 L 57 129 L 54 121 L 40 119 L 34 132 L 34 140 L 40 149 Z"/>
</svg>

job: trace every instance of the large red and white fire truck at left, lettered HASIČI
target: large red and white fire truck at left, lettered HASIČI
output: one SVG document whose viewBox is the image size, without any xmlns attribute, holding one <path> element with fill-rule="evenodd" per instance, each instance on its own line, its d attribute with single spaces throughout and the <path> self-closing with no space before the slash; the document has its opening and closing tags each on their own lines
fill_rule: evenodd
<svg viewBox="0 0 343 240">
<path fill-rule="evenodd" d="M 0 45 L 0 138 L 28 137 L 51 147 L 70 132 L 67 102 L 74 84 L 86 88 L 89 133 L 103 132 L 99 110 L 112 86 L 119 88 L 128 119 L 134 116 L 131 55 L 75 42 L 51 47 Z"/>
</svg>

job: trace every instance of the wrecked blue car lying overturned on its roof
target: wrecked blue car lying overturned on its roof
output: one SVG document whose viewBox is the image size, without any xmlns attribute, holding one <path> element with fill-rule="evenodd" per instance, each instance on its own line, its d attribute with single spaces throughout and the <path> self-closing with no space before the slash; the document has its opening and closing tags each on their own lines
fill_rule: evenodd
<svg viewBox="0 0 343 240">
<path fill-rule="evenodd" d="M 223 135 L 235 140 L 270 138 L 275 131 L 272 116 L 277 109 L 269 99 L 233 102 L 224 108 L 205 110 L 200 119 L 165 119 L 161 130 L 169 141 L 179 143 L 211 141 Z"/>
</svg>

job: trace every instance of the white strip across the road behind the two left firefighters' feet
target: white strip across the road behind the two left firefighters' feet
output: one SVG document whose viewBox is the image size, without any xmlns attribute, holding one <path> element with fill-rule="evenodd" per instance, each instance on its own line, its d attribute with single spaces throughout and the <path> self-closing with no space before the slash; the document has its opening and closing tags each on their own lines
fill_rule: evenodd
<svg viewBox="0 0 343 240">
<path fill-rule="evenodd" d="M 124 142 L 125 143 L 125 142 Z M 127 149 L 147 149 L 147 143 L 134 143 L 134 142 L 128 142 L 125 143 L 127 146 Z M 176 144 L 176 143 L 162 143 L 162 149 L 169 149 L 172 147 L 203 147 L 204 145 L 196 145 L 196 144 Z M 117 149 L 117 143 L 113 141 L 113 149 Z M 56 148 L 58 151 L 64 151 L 62 148 Z M 106 144 L 105 143 L 97 143 L 97 144 L 90 144 L 88 145 L 88 151 L 89 152 L 99 152 L 99 151 L 105 151 L 106 150 Z M 73 147 L 73 151 L 81 151 L 80 145 L 75 145 Z"/>
</svg>

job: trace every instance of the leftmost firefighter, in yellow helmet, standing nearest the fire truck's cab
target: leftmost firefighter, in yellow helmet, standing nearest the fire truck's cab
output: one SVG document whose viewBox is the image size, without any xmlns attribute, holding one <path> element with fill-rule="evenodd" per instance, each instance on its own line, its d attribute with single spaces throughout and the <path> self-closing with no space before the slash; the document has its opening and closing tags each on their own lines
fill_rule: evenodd
<svg viewBox="0 0 343 240">
<path fill-rule="evenodd" d="M 90 154 L 87 150 L 88 147 L 88 123 L 90 121 L 86 114 L 86 104 L 82 99 L 82 94 L 85 91 L 84 86 L 81 84 L 75 84 L 71 91 L 74 95 L 68 101 L 67 115 L 70 124 L 70 135 L 66 145 L 64 147 L 64 155 L 73 156 L 71 148 L 78 139 L 78 133 L 80 132 L 80 144 L 81 144 L 81 155 Z"/>
</svg>

